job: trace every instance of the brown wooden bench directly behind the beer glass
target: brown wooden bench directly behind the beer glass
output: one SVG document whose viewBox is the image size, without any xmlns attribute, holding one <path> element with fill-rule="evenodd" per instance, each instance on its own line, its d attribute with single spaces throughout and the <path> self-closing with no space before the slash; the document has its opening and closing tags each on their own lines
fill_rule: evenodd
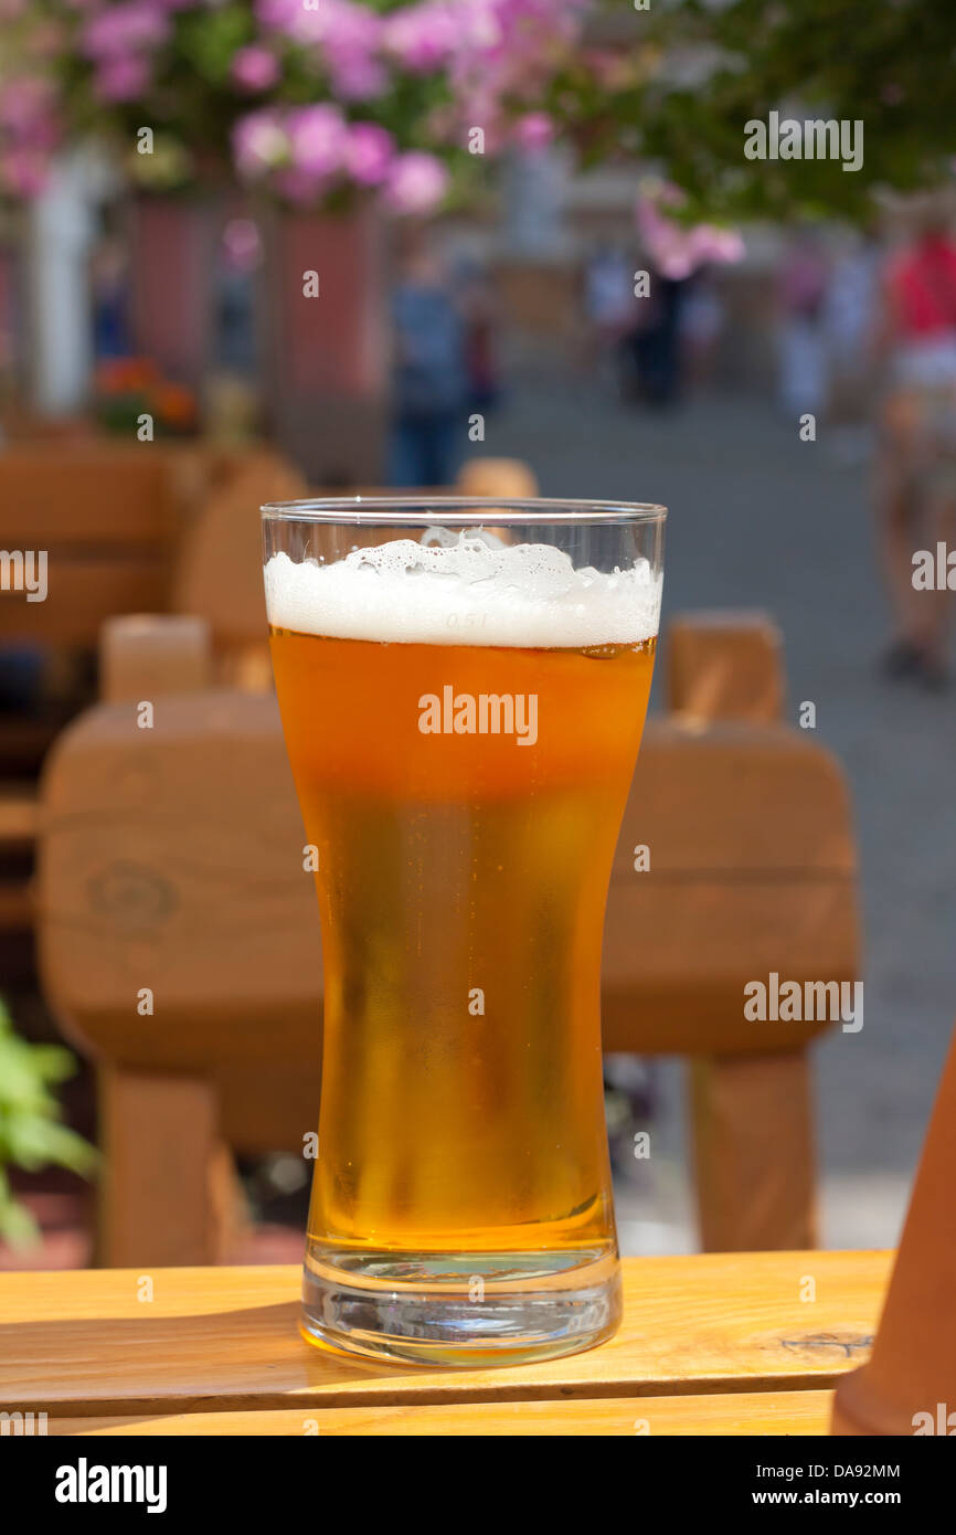
<svg viewBox="0 0 956 1535">
<path fill-rule="evenodd" d="M 120 678 L 112 701 L 48 764 L 40 962 L 64 1032 L 101 1064 L 100 1260 L 216 1262 L 232 1242 L 229 1148 L 301 1150 L 315 1128 L 318 916 L 275 698 L 204 686 L 201 623 L 190 637 L 157 622 L 152 639 L 143 623 L 129 665 L 104 668 Z M 747 619 L 714 628 L 707 665 L 721 637 L 740 649 L 741 629 L 757 672 L 778 666 L 773 631 Z M 680 623 L 674 643 L 680 654 Z M 146 683 L 140 668 L 164 648 Z M 697 675 L 674 685 L 687 708 L 649 726 L 625 814 L 605 1048 L 692 1061 L 704 1245 L 801 1248 L 815 1242 L 807 1045 L 827 1025 L 750 1024 L 743 987 L 775 970 L 855 978 L 846 784 L 804 732 L 707 723 Z M 150 731 L 135 728 L 144 695 Z M 706 698 L 720 709 L 712 686 Z M 137 1010 L 143 987 L 153 1016 Z"/>
</svg>

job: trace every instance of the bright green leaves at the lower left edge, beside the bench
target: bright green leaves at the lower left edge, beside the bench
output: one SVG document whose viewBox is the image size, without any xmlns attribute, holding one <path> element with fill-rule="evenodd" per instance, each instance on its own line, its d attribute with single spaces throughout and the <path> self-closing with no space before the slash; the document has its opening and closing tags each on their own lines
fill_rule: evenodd
<svg viewBox="0 0 956 1535">
<path fill-rule="evenodd" d="M 6 1168 L 29 1173 L 51 1164 L 72 1173 L 92 1173 L 97 1153 L 60 1122 L 51 1088 L 72 1076 L 75 1062 L 61 1045 L 31 1045 L 14 1033 L 0 1002 L 0 1240 L 23 1245 L 35 1239 L 32 1216 L 17 1203 Z"/>
</svg>

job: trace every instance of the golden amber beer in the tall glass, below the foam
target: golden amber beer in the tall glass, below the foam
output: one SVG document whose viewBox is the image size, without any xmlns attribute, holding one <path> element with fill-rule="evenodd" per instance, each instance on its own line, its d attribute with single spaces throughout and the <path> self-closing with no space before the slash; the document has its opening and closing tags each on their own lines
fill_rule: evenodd
<svg viewBox="0 0 956 1535">
<path fill-rule="evenodd" d="M 543 1271 L 615 1283 L 602 929 L 654 637 L 270 645 L 325 976 L 307 1312 L 342 1276 L 463 1325 Z"/>
</svg>

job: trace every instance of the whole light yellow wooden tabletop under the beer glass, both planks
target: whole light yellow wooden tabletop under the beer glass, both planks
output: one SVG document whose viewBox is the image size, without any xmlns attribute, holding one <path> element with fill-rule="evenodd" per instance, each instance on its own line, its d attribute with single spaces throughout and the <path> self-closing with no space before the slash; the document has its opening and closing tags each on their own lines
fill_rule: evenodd
<svg viewBox="0 0 956 1535">
<path fill-rule="evenodd" d="M 310 1348 L 298 1268 L 0 1274 L 0 1409 L 69 1435 L 826 1434 L 890 1260 L 628 1259 L 625 1322 L 603 1348 L 476 1371 Z"/>
</svg>

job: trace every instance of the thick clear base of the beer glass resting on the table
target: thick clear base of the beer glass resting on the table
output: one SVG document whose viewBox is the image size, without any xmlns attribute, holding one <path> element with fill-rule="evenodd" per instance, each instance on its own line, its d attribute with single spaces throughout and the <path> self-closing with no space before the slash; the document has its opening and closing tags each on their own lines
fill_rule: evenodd
<svg viewBox="0 0 956 1535">
<path fill-rule="evenodd" d="M 485 1369 L 603 1343 L 621 1314 L 612 1251 L 316 1251 L 302 1335 L 365 1358 Z"/>
</svg>

